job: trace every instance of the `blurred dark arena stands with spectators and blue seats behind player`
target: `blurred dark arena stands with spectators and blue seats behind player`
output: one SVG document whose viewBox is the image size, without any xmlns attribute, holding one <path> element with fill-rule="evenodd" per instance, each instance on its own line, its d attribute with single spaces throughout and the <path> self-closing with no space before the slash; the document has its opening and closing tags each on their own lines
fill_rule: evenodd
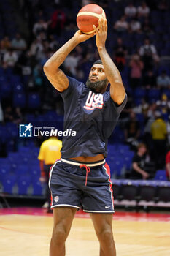
<svg viewBox="0 0 170 256">
<path fill-rule="evenodd" d="M 170 144 L 168 0 L 0 0 L 0 157 L 14 161 L 12 156 L 16 159 L 28 148 L 36 161 L 37 146 L 45 138 L 21 140 L 18 124 L 63 121 L 61 96 L 42 67 L 77 31 L 80 8 L 95 2 L 106 12 L 107 50 L 128 94 L 109 140 L 112 177 L 153 178 L 156 170 L 163 170 L 166 178 Z M 61 69 L 85 82 L 98 58 L 93 38 L 77 45 Z M 28 157 L 27 150 L 24 156 Z M 136 163 L 145 172 L 140 177 L 132 177 Z"/>
</svg>

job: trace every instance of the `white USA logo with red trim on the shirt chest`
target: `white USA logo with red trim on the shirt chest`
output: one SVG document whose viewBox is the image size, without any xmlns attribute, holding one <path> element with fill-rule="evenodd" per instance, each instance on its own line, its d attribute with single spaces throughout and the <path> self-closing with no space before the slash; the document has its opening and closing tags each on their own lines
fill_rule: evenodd
<svg viewBox="0 0 170 256">
<path fill-rule="evenodd" d="M 93 110 L 95 108 L 103 108 L 104 105 L 104 97 L 102 94 L 95 94 L 92 91 L 89 91 L 88 98 L 85 102 L 85 109 Z"/>
</svg>

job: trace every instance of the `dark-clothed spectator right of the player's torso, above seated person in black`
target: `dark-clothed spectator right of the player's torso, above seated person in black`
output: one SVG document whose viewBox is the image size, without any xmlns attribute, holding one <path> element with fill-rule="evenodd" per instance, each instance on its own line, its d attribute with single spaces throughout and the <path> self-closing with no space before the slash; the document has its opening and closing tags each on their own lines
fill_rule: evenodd
<svg viewBox="0 0 170 256">
<path fill-rule="evenodd" d="M 139 121 L 136 120 L 136 114 L 131 111 L 130 118 L 125 124 L 125 140 L 128 143 L 138 140 L 140 135 Z"/>
</svg>

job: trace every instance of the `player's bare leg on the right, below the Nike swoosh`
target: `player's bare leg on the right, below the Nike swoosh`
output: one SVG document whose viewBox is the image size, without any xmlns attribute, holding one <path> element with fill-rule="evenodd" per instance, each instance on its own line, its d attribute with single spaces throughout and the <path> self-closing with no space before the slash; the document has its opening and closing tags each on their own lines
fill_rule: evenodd
<svg viewBox="0 0 170 256">
<path fill-rule="evenodd" d="M 100 243 L 100 256 L 116 256 L 112 233 L 112 214 L 91 213 L 90 217 Z"/>
</svg>

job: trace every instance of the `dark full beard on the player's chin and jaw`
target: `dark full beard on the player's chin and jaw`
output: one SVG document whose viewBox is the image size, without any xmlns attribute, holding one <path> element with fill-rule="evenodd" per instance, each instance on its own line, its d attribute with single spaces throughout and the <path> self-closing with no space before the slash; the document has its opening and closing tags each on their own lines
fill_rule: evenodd
<svg viewBox="0 0 170 256">
<path fill-rule="evenodd" d="M 88 88 L 91 89 L 91 91 L 97 92 L 97 93 L 103 93 L 107 89 L 107 78 L 101 81 L 96 82 L 90 82 L 89 78 L 87 82 L 85 83 Z"/>
</svg>

